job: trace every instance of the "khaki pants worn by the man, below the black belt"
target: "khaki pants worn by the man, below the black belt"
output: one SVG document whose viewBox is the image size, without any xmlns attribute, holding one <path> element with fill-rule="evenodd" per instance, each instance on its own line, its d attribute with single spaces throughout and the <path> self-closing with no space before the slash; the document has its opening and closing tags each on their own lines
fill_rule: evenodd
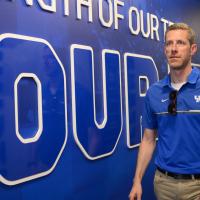
<svg viewBox="0 0 200 200">
<path fill-rule="evenodd" d="M 200 179 L 177 180 L 157 170 L 154 191 L 158 200 L 200 200 Z"/>
</svg>

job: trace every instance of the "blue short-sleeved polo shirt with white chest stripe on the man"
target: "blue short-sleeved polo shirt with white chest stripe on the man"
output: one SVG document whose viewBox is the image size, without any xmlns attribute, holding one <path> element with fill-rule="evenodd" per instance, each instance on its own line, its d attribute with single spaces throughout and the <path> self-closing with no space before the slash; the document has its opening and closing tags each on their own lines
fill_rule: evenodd
<svg viewBox="0 0 200 200">
<path fill-rule="evenodd" d="M 153 84 L 145 98 L 143 126 L 157 129 L 155 164 L 169 172 L 200 174 L 200 70 L 193 68 L 177 95 L 177 114 L 168 113 L 170 76 Z"/>
</svg>

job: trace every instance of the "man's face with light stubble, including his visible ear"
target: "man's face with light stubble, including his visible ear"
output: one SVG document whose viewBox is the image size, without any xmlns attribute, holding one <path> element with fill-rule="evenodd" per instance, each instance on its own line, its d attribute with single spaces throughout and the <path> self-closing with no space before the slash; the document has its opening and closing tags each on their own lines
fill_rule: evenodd
<svg viewBox="0 0 200 200">
<path fill-rule="evenodd" d="M 191 62 L 197 45 L 190 45 L 187 30 L 171 30 L 166 35 L 165 55 L 171 69 L 184 69 Z"/>
</svg>

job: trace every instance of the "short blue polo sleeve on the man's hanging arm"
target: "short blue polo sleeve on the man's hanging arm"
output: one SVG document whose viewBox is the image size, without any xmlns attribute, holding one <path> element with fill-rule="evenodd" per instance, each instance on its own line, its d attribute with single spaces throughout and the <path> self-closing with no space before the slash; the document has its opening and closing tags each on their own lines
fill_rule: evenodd
<svg viewBox="0 0 200 200">
<path fill-rule="evenodd" d="M 143 108 L 143 128 L 157 129 L 157 117 L 152 110 L 150 93 L 147 92 Z"/>
</svg>

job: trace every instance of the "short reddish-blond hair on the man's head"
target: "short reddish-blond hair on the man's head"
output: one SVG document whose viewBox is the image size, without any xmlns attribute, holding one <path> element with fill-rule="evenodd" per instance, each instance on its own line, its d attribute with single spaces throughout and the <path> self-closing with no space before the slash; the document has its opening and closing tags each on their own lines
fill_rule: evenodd
<svg viewBox="0 0 200 200">
<path fill-rule="evenodd" d="M 190 42 L 190 45 L 196 43 L 196 34 L 194 32 L 194 30 L 187 24 L 185 23 L 175 23 L 175 24 L 172 24 L 170 26 L 167 27 L 167 30 L 165 32 L 165 40 L 166 40 L 166 35 L 169 31 L 172 31 L 172 30 L 186 30 L 188 31 L 188 35 L 189 35 L 189 42 Z"/>
</svg>

